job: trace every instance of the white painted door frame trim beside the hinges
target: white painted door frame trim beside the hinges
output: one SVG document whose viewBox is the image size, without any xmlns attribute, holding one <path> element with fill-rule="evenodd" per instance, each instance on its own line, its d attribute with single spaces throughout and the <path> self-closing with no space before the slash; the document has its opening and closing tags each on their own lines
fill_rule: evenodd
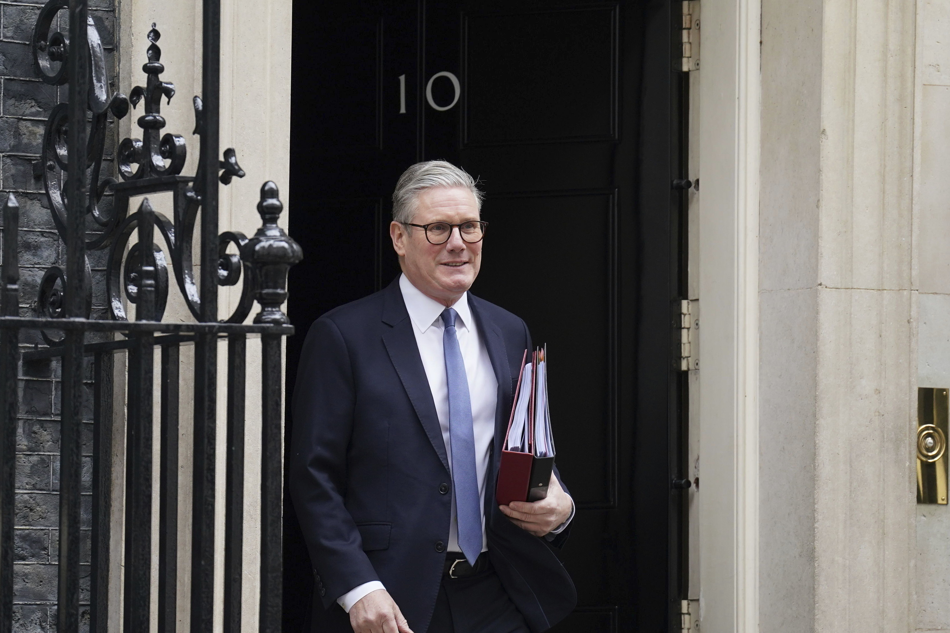
<svg viewBox="0 0 950 633">
<path fill-rule="evenodd" d="M 700 621 L 759 629 L 759 0 L 705 0 L 700 78 Z M 691 544 L 696 547 L 697 544 Z"/>
</svg>

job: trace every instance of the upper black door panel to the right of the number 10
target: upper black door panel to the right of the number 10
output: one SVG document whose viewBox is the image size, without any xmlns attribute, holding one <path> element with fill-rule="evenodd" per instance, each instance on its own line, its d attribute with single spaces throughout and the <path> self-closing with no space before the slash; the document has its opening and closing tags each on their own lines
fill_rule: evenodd
<svg viewBox="0 0 950 633">
<path fill-rule="evenodd" d="M 616 7 L 466 14 L 465 146 L 614 140 L 616 27 Z"/>
</svg>

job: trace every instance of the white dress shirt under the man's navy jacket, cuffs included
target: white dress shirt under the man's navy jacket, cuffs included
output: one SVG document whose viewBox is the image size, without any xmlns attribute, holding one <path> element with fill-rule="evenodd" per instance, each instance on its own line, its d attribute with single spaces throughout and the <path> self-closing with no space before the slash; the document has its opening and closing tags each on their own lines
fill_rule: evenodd
<svg viewBox="0 0 950 633">
<path fill-rule="evenodd" d="M 435 402 L 435 412 L 442 427 L 442 438 L 446 444 L 448 467 L 452 466 L 452 442 L 448 427 L 448 382 L 446 377 L 446 357 L 443 353 L 442 336 L 445 326 L 442 312 L 446 307 L 423 294 L 409 281 L 406 275 L 399 278 L 399 289 L 412 322 L 419 356 L 426 369 L 428 386 Z M 495 414 L 498 405 L 498 380 L 488 358 L 488 349 L 479 336 L 478 327 L 468 307 L 468 293 L 462 295 L 452 307 L 458 313 L 455 320 L 456 335 L 462 349 L 462 361 L 466 365 L 468 396 L 472 405 L 472 424 L 475 432 L 475 473 L 478 475 L 479 500 L 482 510 L 482 551 L 488 549 L 488 537 L 485 533 L 485 482 L 488 463 L 491 459 L 492 439 L 495 438 Z M 573 518 L 574 512 L 571 512 Z M 570 518 L 558 527 L 560 532 L 570 522 Z M 455 504 L 452 504 L 451 519 L 448 525 L 448 551 L 461 551 L 459 548 L 459 525 Z M 376 589 L 386 588 L 379 581 L 372 581 L 353 588 L 337 599 L 337 603 L 347 613 L 363 596 Z"/>
</svg>

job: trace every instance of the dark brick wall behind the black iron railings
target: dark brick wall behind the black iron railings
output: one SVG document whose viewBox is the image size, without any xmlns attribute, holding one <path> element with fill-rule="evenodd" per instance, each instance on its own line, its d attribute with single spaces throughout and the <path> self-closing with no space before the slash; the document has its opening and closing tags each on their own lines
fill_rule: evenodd
<svg viewBox="0 0 950 633">
<path fill-rule="evenodd" d="M 65 246 L 56 233 L 43 193 L 42 178 L 33 177 L 43 131 L 50 110 L 66 101 L 67 86 L 51 86 L 36 79 L 28 42 L 44 3 L 0 1 L 0 192 L 16 195 L 20 203 L 20 313 L 35 313 L 36 294 L 43 273 L 53 264 L 64 265 Z M 103 38 L 109 76 L 115 77 L 115 11 L 113 0 L 91 0 L 90 13 Z M 59 29 L 66 32 L 66 13 Z M 117 87 L 113 86 L 113 90 Z M 114 129 L 114 125 L 110 130 Z M 115 139 L 106 142 L 115 146 Z M 106 150 L 110 157 L 110 150 Z M 113 173 L 111 161 L 104 176 Z M 2 231 L 2 228 L 0 228 Z M 93 275 L 93 318 L 107 318 L 104 294 L 106 253 L 89 252 Z M 88 340 L 94 340 L 91 336 Z M 44 344 L 38 332 L 20 333 L 24 348 Z M 85 367 L 83 429 L 83 520 L 90 525 L 92 479 L 92 366 Z M 20 419 L 17 425 L 14 631 L 47 633 L 56 629 L 56 561 L 59 521 L 60 363 L 24 363 L 21 367 Z M 89 532 L 84 531 L 82 561 L 89 562 Z M 88 567 L 83 572 L 84 630 L 88 624 Z"/>
</svg>

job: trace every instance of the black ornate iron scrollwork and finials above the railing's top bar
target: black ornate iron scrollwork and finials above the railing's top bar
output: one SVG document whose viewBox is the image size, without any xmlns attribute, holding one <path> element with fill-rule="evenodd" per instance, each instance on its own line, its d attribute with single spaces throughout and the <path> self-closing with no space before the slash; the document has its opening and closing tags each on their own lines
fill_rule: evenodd
<svg viewBox="0 0 950 633">
<path fill-rule="evenodd" d="M 60 85 L 66 82 L 66 65 L 69 62 L 69 55 L 75 52 L 70 50 L 68 40 L 63 33 L 50 32 L 56 14 L 66 9 L 67 5 L 67 0 L 49 0 L 40 10 L 34 29 L 33 56 L 36 72 L 47 84 Z M 161 100 L 171 102 L 175 96 L 175 84 L 161 80 L 165 67 L 161 64 L 161 47 L 158 45 L 161 32 L 156 24 L 152 24 L 147 37 L 149 41 L 145 51 L 147 61 L 142 65 L 142 71 L 146 75 L 145 84 L 133 87 L 128 98 L 121 93 L 109 95 L 101 39 L 92 19 L 88 20 L 88 59 L 92 79 L 88 110 L 91 112 L 92 122 L 88 144 L 89 168 L 86 170 L 90 201 L 86 213 L 91 215 L 95 224 L 88 225 L 85 244 L 86 249 L 89 250 L 109 250 L 106 265 L 106 292 L 110 317 L 119 321 L 128 320 L 124 307 L 125 301 L 131 304 L 138 302 L 139 283 L 142 276 L 142 249 L 144 248 L 138 244 L 128 247 L 132 234 L 136 232 L 142 220 L 141 207 L 134 214 L 128 213 L 129 198 L 142 194 L 172 193 L 173 216 L 171 219 L 154 211 L 148 214 L 154 217 L 155 228 L 161 234 L 163 242 L 163 248 L 152 244 L 151 249 L 155 259 L 154 318 L 161 320 L 167 303 L 170 264 L 185 305 L 188 306 L 192 315 L 200 320 L 201 300 L 195 279 L 192 242 L 201 208 L 202 184 L 200 178 L 181 176 L 187 157 L 184 138 L 178 134 L 161 134 L 166 124 L 161 116 Z M 117 119 L 121 119 L 128 114 L 130 106 L 135 108 L 140 103 L 143 104 L 144 112 L 137 122 L 142 129 L 142 139 L 123 139 L 117 151 L 118 171 L 122 180 L 112 177 L 100 179 L 108 114 L 111 113 Z M 56 227 L 64 240 L 66 240 L 64 192 L 68 167 L 66 107 L 66 103 L 60 103 L 53 108 L 49 116 L 41 163 L 49 207 Z M 198 96 L 194 98 L 194 108 L 193 134 L 199 137 L 200 143 L 204 129 L 202 102 Z M 200 148 L 199 144 L 199 154 L 201 152 L 203 148 Z M 218 179 L 222 184 L 229 184 L 234 177 L 244 177 L 244 170 L 237 162 L 234 148 L 224 150 L 222 158 L 218 160 L 220 169 Z M 273 183 L 265 184 L 265 188 L 268 186 L 273 186 Z M 109 205 L 103 204 L 101 208 L 100 203 L 104 194 L 110 190 L 114 193 L 114 199 L 108 211 L 105 211 L 104 208 Z M 271 189 L 268 191 L 270 192 Z M 267 202 L 268 209 L 273 208 L 275 202 L 276 205 L 280 205 L 279 200 L 276 199 L 276 186 L 273 186 L 273 194 L 273 198 L 268 198 L 270 200 Z M 147 199 L 142 202 L 142 205 L 146 204 L 148 204 Z M 262 201 L 261 204 L 264 202 Z M 277 213 L 279 214 L 279 211 Z M 274 217 L 276 218 L 276 215 Z M 260 239 L 274 241 L 276 236 L 271 233 L 274 232 L 276 224 L 272 227 L 267 222 L 265 218 L 265 227 L 258 232 L 258 236 Z M 280 231 L 280 233 L 283 232 Z M 289 240 L 287 244 L 293 244 L 296 251 L 299 251 L 299 247 L 286 236 L 286 233 L 283 233 L 283 236 Z M 259 243 L 259 240 L 256 243 Z M 228 252 L 229 247 L 238 252 L 244 252 L 246 244 L 248 244 L 247 236 L 237 231 L 221 233 L 218 236 L 218 285 L 236 286 L 243 281 L 237 307 L 234 313 L 223 320 L 225 323 L 242 323 L 250 314 L 255 298 L 261 298 L 260 292 L 255 288 L 255 280 L 262 279 L 260 276 L 262 273 L 256 273 L 254 268 L 254 266 L 262 266 L 260 262 L 256 260 L 256 263 L 252 265 L 252 262 L 246 258 L 242 261 L 241 255 Z M 284 281 L 273 282 L 278 285 L 275 288 L 278 294 L 282 292 L 283 296 L 286 296 L 286 270 L 298 260 L 299 256 L 296 259 L 291 257 L 287 266 L 282 269 Z M 261 270 L 270 271 L 269 266 L 279 265 L 268 264 L 262 266 Z M 267 276 L 270 279 L 269 272 Z M 37 306 L 43 316 L 57 317 L 61 313 L 57 309 L 59 301 L 57 292 L 65 288 L 66 276 L 63 270 L 52 267 L 47 272 L 47 277 L 52 281 L 41 284 Z M 286 317 L 283 317 L 283 320 L 277 317 L 278 313 L 282 314 L 279 306 L 283 300 L 276 304 L 276 308 L 270 295 L 266 301 L 268 307 L 265 307 L 261 314 L 266 313 L 267 319 L 260 323 L 287 323 Z M 86 303 L 91 305 L 91 296 Z M 265 301 L 261 299 L 261 304 L 264 305 L 264 303 Z M 47 343 L 56 344 L 58 341 L 47 337 Z"/>
</svg>

